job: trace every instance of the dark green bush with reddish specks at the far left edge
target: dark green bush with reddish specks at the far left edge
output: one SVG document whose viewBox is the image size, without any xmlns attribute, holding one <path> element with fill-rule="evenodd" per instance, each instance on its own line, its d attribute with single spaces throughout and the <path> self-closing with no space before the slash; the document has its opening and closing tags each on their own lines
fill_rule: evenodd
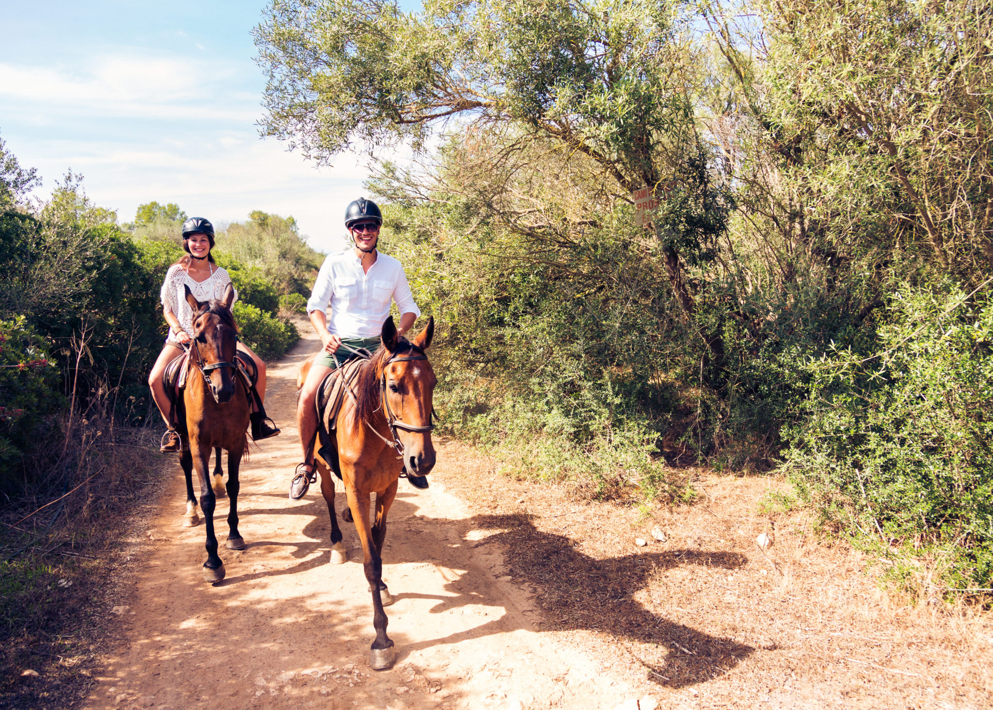
<svg viewBox="0 0 993 710">
<path fill-rule="evenodd" d="M 21 456 L 46 438 L 63 405 L 44 338 L 20 316 L 0 320 L 0 489 L 20 476 Z"/>
</svg>

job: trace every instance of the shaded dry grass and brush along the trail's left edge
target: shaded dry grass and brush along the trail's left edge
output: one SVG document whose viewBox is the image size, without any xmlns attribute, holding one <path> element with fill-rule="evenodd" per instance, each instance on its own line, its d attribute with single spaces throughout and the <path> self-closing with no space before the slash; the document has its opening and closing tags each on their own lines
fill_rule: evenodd
<svg viewBox="0 0 993 710">
<path fill-rule="evenodd" d="M 122 543 L 139 542 L 129 531 L 162 487 L 156 433 L 90 414 L 63 423 L 68 437 L 38 455 L 47 468 L 0 509 L 0 708 L 84 695 L 115 633 L 114 582 L 139 556 Z"/>
</svg>

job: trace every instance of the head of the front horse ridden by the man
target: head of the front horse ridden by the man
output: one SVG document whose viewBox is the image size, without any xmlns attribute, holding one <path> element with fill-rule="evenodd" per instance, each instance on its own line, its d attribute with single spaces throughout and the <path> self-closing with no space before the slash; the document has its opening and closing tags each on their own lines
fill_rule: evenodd
<svg viewBox="0 0 993 710">
<path fill-rule="evenodd" d="M 402 446 L 403 463 L 413 475 L 427 475 L 435 464 L 431 442 L 434 388 L 438 383 L 425 351 L 434 337 L 434 317 L 413 340 L 396 332 L 393 318 L 382 325 L 381 406 L 394 440 Z"/>
</svg>

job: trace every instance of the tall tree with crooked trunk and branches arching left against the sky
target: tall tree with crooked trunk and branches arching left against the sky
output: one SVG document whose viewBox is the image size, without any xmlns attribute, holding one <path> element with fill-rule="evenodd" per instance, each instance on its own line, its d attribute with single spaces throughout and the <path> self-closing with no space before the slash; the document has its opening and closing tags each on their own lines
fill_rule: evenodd
<svg viewBox="0 0 993 710">
<path fill-rule="evenodd" d="M 727 191 L 696 130 L 694 51 L 677 2 L 428 3 L 405 15 L 379 0 L 273 0 L 255 30 L 268 73 L 263 133 L 328 163 L 355 142 L 423 147 L 454 121 L 552 141 L 600 166 L 615 197 L 673 185 L 656 220 L 685 317 L 696 297 L 683 256 L 723 232 Z M 688 18 L 687 18 L 688 19 Z M 719 329 L 701 330 L 716 365 Z"/>
</svg>

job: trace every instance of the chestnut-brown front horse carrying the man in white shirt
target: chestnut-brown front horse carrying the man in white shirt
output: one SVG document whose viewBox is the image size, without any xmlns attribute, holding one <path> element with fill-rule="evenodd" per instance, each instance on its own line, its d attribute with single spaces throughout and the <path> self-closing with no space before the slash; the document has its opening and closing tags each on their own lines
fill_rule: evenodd
<svg viewBox="0 0 993 710">
<path fill-rule="evenodd" d="M 413 340 L 396 332 L 393 318 L 382 326 L 382 344 L 371 359 L 362 363 L 352 386 L 352 396 L 338 414 L 333 432 L 320 416 L 318 439 L 331 445 L 318 454 L 321 492 L 331 514 L 332 562 L 345 562 L 342 531 L 335 516 L 335 474 L 341 470 L 349 499 L 346 519 L 355 522 L 362 544 L 365 579 L 372 593 L 372 625 L 375 640 L 369 665 L 376 670 L 396 661 L 393 641 L 386 635 L 383 606 L 392 604 L 382 581 L 382 543 L 386 537 L 386 515 L 396 496 L 402 467 L 416 475 L 427 475 L 435 463 L 431 442 L 432 397 L 437 380 L 424 351 L 434 335 L 434 318 Z M 328 377 L 334 377 L 332 373 Z M 403 464 L 401 466 L 400 460 Z M 375 493 L 375 519 L 369 516 L 369 494 Z M 347 513 L 351 512 L 351 516 Z"/>
</svg>

